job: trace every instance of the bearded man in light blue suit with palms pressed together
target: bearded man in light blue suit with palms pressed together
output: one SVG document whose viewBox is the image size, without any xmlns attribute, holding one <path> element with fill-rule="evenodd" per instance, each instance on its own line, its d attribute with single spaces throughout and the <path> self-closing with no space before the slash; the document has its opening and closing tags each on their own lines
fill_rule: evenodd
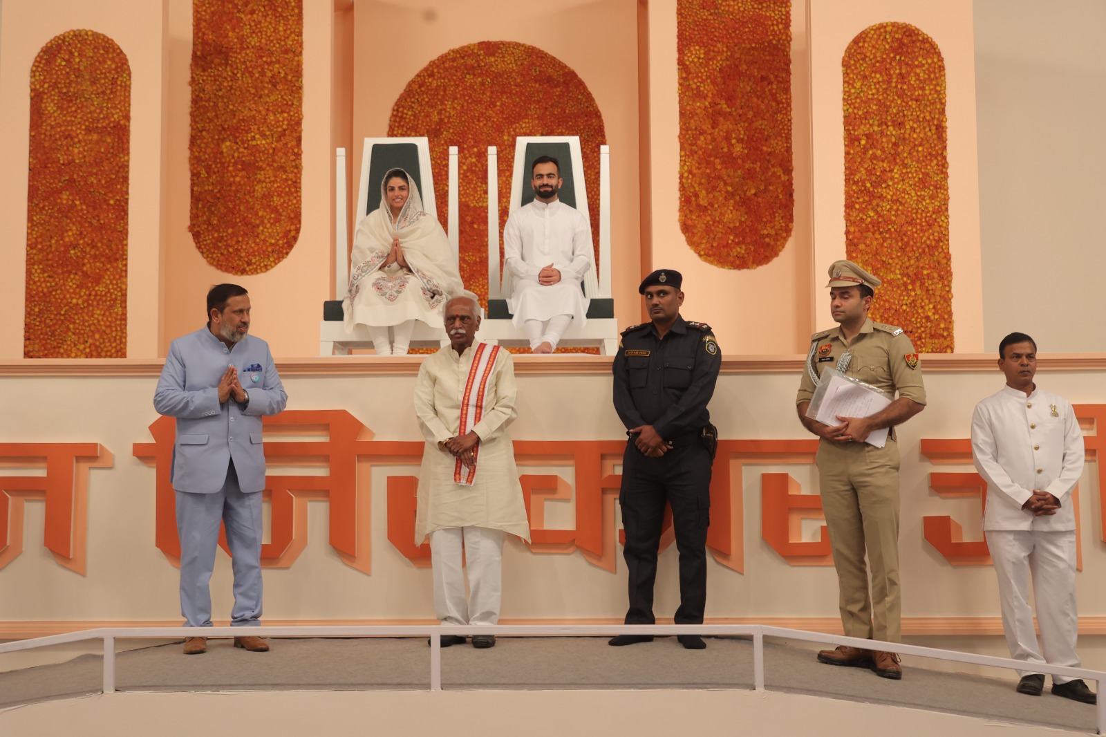
<svg viewBox="0 0 1106 737">
<path fill-rule="evenodd" d="M 261 494 L 265 457 L 261 417 L 288 404 L 269 344 L 249 334 L 250 297 L 218 284 L 207 297 L 208 324 L 169 345 L 154 408 L 177 418 L 173 488 L 180 536 L 180 611 L 188 626 L 211 626 L 209 582 L 226 523 L 234 571 L 231 626 L 261 617 Z M 236 647 L 264 652 L 257 636 Z M 207 637 L 185 640 L 185 654 L 207 652 Z"/>
</svg>

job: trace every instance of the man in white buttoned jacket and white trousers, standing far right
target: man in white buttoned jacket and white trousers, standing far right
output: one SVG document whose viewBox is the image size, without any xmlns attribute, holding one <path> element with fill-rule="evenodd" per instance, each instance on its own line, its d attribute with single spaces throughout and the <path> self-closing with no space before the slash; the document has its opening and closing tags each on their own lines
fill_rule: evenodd
<svg viewBox="0 0 1106 737">
<path fill-rule="evenodd" d="M 1034 384 L 1032 338 L 1006 335 L 999 355 L 1006 385 L 975 406 L 971 450 L 987 479 L 983 530 L 999 577 L 1002 629 L 1014 660 L 1078 667 L 1072 489 L 1083 474 L 1083 432 L 1067 399 Z M 1031 573 L 1040 647 L 1029 603 Z M 1040 696 L 1044 674 L 1019 674 L 1018 692 Z M 1082 679 L 1053 676 L 1052 683 L 1058 696 L 1096 703 Z"/>
</svg>

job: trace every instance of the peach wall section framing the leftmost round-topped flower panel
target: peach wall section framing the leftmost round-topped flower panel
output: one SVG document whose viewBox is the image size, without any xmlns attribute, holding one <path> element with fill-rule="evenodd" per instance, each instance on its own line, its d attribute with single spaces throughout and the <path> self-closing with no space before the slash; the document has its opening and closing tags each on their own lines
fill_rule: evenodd
<svg viewBox="0 0 1106 737">
<path fill-rule="evenodd" d="M 127 354 L 157 355 L 168 0 L 7 0 L 0 17 L 0 356 L 23 355 L 27 168 L 31 64 L 60 33 L 88 29 L 119 45 L 131 64 L 131 191 L 127 232 Z"/>
</svg>

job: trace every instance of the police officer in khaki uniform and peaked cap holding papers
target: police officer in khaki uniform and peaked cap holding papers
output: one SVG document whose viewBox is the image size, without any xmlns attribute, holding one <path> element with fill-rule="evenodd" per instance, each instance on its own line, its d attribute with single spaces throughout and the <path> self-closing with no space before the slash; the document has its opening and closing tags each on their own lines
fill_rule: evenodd
<svg viewBox="0 0 1106 737">
<path fill-rule="evenodd" d="M 898 580 L 899 453 L 894 427 L 925 408 L 918 354 L 901 328 L 873 322 L 868 310 L 880 281 L 852 261 L 830 267 L 830 312 L 837 328 L 811 336 L 795 404 L 803 426 L 821 438 L 815 463 L 822 509 L 841 589 L 841 620 L 849 637 L 898 642 L 901 601 Z M 890 396 L 869 417 L 838 417 L 823 425 L 806 416 L 822 372 L 836 367 Z M 893 428 L 883 448 L 864 440 Z M 872 563 L 872 595 L 864 557 Z M 831 665 L 868 667 L 885 678 L 901 678 L 896 653 L 838 646 L 818 653 Z"/>
</svg>

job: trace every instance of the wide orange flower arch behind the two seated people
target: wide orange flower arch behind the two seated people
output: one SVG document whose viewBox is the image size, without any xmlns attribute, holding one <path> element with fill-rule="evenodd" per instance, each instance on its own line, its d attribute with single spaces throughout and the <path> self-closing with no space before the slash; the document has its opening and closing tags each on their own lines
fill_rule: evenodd
<svg viewBox="0 0 1106 737">
<path fill-rule="evenodd" d="M 407 83 L 392 108 L 388 135 L 430 139 L 439 203 L 447 200 L 449 146 L 458 146 L 461 280 L 480 299 L 488 299 L 488 146 L 498 147 L 502 232 L 510 207 L 515 137 L 580 136 L 592 237 L 598 250 L 599 146 L 606 143 L 603 115 L 580 76 L 541 49 L 483 41 L 446 52 Z M 523 186 L 530 186 L 529 177 Z M 448 227 L 446 212 L 439 212 L 439 218 Z M 598 263 L 597 252 L 595 260 Z"/>
</svg>

